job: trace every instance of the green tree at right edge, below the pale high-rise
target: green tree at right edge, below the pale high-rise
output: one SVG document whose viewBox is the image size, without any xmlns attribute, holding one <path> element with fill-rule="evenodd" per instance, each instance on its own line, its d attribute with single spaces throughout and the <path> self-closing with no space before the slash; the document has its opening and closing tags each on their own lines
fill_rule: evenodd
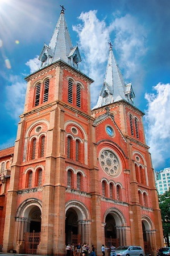
<svg viewBox="0 0 170 256">
<path fill-rule="evenodd" d="M 164 194 L 159 195 L 159 207 L 161 210 L 161 219 L 163 222 L 163 232 L 166 246 L 169 247 L 170 235 L 170 187 Z"/>
</svg>

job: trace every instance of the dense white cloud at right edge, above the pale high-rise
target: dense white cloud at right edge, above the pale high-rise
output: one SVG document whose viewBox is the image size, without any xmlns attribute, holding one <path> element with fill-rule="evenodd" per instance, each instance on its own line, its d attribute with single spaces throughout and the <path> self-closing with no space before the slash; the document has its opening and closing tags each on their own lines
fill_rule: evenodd
<svg viewBox="0 0 170 256">
<path fill-rule="evenodd" d="M 146 94 L 148 110 L 146 111 L 146 139 L 150 146 L 154 167 L 164 165 L 169 158 L 170 147 L 170 84 L 158 83 L 154 88 L 156 94 Z"/>
</svg>

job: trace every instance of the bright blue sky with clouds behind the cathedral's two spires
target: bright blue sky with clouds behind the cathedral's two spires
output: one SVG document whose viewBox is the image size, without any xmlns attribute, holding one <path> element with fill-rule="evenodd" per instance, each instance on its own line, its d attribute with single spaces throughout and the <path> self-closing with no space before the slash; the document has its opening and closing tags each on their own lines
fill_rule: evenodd
<svg viewBox="0 0 170 256">
<path fill-rule="evenodd" d="M 94 79 L 92 107 L 101 89 L 109 44 L 123 78 L 132 82 L 135 106 L 144 111 L 146 140 L 156 170 L 170 166 L 169 0 L 0 0 L 0 147 L 14 143 L 23 113 L 24 77 L 39 65 L 61 7 L 80 69 Z"/>
</svg>

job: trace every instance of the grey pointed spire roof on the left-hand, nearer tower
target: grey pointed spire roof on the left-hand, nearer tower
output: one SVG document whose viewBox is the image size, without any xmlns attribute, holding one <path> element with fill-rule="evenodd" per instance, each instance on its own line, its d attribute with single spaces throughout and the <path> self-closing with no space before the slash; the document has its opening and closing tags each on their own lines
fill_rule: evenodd
<svg viewBox="0 0 170 256">
<path fill-rule="evenodd" d="M 49 64 L 61 59 L 72 67 L 78 69 L 78 62 L 81 61 L 78 46 L 73 47 L 72 45 L 64 16 L 65 9 L 63 6 L 61 7 L 63 10 L 61 10 L 51 41 L 49 42 L 49 45 L 44 43 L 43 49 L 40 53 L 40 68 L 48 66 Z"/>
</svg>

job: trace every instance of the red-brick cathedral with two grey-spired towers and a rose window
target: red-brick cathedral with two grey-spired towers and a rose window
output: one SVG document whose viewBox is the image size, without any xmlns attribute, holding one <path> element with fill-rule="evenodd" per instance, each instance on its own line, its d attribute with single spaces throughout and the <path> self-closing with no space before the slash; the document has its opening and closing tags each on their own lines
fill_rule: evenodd
<svg viewBox="0 0 170 256">
<path fill-rule="evenodd" d="M 25 78 L 15 146 L 0 151 L 0 251 L 65 255 L 68 243 L 85 242 L 97 255 L 102 244 L 156 255 L 163 230 L 144 113 L 111 43 L 90 108 L 94 81 L 80 71 L 64 11 Z"/>
</svg>

